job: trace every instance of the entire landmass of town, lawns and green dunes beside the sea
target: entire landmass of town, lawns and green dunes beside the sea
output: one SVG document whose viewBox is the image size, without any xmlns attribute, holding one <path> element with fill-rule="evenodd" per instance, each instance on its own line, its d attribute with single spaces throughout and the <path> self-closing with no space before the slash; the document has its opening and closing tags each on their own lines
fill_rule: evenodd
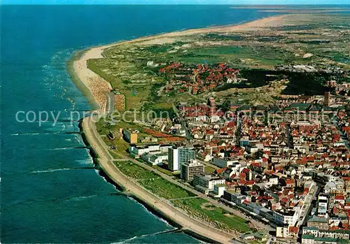
<svg viewBox="0 0 350 244">
<path fill-rule="evenodd" d="M 211 241 L 349 243 L 349 20 L 297 17 L 90 59 L 102 169 Z"/>
</svg>

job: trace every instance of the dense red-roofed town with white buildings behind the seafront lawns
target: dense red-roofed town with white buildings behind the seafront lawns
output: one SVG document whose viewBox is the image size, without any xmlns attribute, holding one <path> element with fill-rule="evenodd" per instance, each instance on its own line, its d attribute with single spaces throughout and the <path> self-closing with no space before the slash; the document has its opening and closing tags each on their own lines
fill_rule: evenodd
<svg viewBox="0 0 350 244">
<path fill-rule="evenodd" d="M 179 103 L 175 115 L 147 127 L 110 130 L 106 141 L 111 150 L 118 148 L 111 141 L 126 141 L 130 159 L 261 224 L 237 240 L 346 243 L 350 114 L 338 96 L 281 95 L 277 106 L 232 103 L 227 110 L 209 97 Z"/>
</svg>

